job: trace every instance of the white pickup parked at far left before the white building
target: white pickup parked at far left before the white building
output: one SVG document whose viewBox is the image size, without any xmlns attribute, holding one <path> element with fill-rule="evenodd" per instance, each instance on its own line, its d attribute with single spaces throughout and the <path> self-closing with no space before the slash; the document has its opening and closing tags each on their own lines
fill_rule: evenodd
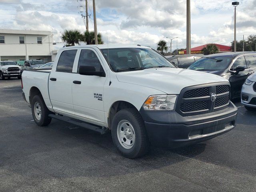
<svg viewBox="0 0 256 192">
<path fill-rule="evenodd" d="M 22 68 L 14 61 L 0 61 L 0 80 L 11 77 L 21 78 Z"/>
</svg>

